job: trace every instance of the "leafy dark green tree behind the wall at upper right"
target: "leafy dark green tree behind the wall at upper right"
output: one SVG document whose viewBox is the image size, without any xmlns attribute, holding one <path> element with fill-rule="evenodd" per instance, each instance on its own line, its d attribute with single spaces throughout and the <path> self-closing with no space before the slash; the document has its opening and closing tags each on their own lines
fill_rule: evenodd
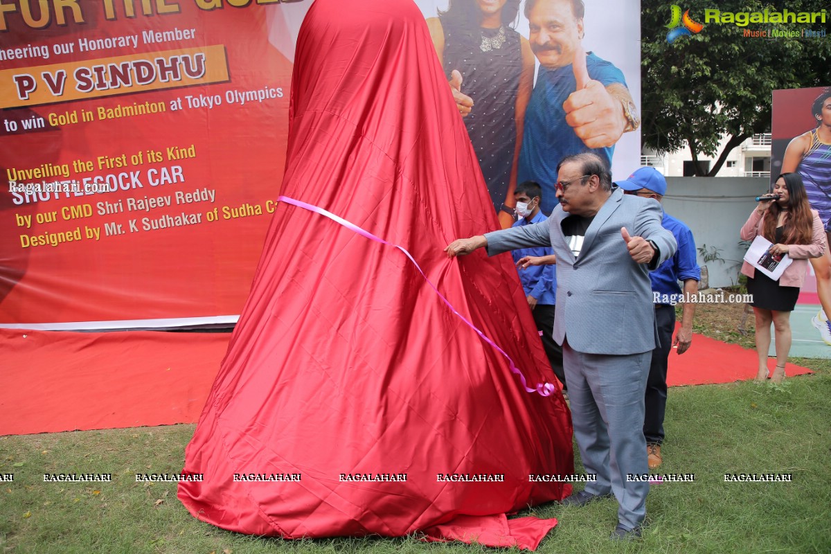
<svg viewBox="0 0 831 554">
<path fill-rule="evenodd" d="M 701 32 L 666 40 L 671 4 L 641 2 L 642 141 L 659 154 L 689 145 L 697 176 L 713 176 L 727 154 L 757 133 L 770 132 L 772 91 L 831 85 L 831 12 L 826 23 L 705 22 L 705 9 L 721 12 L 820 12 L 826 2 L 793 0 L 770 6 L 757 0 L 688 0 L 679 3 L 704 23 Z M 745 37 L 749 31 L 825 30 L 821 38 Z M 727 144 L 717 153 L 722 136 Z M 718 157 L 709 173 L 700 154 Z"/>
</svg>

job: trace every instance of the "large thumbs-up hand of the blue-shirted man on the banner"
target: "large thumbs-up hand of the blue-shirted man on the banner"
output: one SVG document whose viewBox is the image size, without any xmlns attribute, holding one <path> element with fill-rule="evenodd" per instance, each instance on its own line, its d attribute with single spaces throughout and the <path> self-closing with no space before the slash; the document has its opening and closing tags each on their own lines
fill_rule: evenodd
<svg viewBox="0 0 831 554">
<path fill-rule="evenodd" d="M 623 105 L 612 96 L 600 81 L 593 81 L 588 75 L 586 51 L 578 47 L 572 61 L 577 90 L 571 93 L 565 102 L 566 123 L 575 135 L 583 140 L 587 148 L 606 148 L 614 145 L 623 135 L 627 120 L 623 114 Z M 626 86 L 620 83 L 609 85 L 619 87 L 622 94 L 628 96 Z"/>
</svg>

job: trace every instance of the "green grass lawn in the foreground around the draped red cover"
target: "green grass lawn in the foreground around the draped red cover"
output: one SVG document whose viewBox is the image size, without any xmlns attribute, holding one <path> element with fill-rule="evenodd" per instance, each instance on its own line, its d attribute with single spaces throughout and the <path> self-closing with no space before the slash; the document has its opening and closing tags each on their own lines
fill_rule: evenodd
<svg viewBox="0 0 831 554">
<path fill-rule="evenodd" d="M 661 473 L 695 483 L 654 486 L 642 541 L 612 543 L 613 500 L 583 508 L 549 503 L 557 517 L 538 552 L 831 552 L 831 362 L 793 360 L 815 375 L 783 385 L 675 387 Z M 194 425 L 0 438 L 0 553 L 494 552 L 417 537 L 288 542 L 224 532 L 191 517 L 175 483 L 135 483 L 135 473 L 175 473 Z M 575 452 L 577 449 L 575 447 Z M 43 473 L 112 473 L 112 483 L 44 483 Z M 580 471 L 580 468 L 578 468 Z M 725 473 L 792 473 L 792 483 L 725 483 Z"/>
</svg>

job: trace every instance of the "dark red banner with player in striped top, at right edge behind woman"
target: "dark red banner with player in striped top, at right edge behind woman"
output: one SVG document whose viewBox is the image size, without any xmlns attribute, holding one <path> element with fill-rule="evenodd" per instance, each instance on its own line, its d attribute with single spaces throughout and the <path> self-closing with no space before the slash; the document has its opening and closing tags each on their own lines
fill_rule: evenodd
<svg viewBox="0 0 831 554">
<path fill-rule="evenodd" d="M 770 182 L 779 174 L 796 172 L 802 177 L 811 208 L 819 212 L 826 235 L 831 232 L 831 86 L 773 91 Z M 811 325 L 817 338 L 831 346 L 831 256 L 810 260 L 799 304 L 819 305 L 812 311 Z M 827 292 L 826 292 L 827 291 Z M 820 343 L 821 344 L 821 343 Z M 822 356 L 820 353 L 815 355 Z M 831 357 L 831 351 L 824 355 Z"/>
</svg>

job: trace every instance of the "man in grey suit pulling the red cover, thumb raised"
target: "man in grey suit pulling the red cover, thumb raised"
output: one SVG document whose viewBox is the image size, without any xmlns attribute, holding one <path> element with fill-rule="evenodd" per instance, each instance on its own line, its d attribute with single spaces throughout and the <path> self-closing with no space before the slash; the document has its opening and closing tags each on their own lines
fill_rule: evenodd
<svg viewBox="0 0 831 554">
<path fill-rule="evenodd" d="M 612 539 L 641 536 L 649 492 L 643 438 L 644 391 L 656 346 L 649 270 L 672 257 L 676 241 L 661 227 L 652 199 L 612 189 L 606 163 L 593 153 L 558 166 L 560 205 L 541 223 L 461 238 L 449 257 L 486 248 L 550 246 L 557 258 L 554 341 L 563 346 L 574 436 L 597 481 L 563 500 L 583 506 L 614 494 Z"/>
</svg>

